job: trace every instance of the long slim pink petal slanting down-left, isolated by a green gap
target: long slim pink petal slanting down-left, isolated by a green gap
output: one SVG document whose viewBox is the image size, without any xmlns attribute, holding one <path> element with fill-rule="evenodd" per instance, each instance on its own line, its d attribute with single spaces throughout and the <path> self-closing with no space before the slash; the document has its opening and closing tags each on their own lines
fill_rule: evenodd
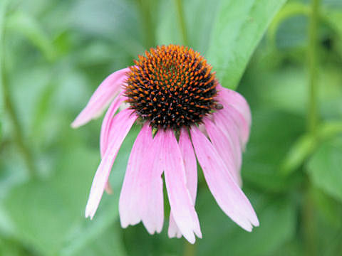
<svg viewBox="0 0 342 256">
<path fill-rule="evenodd" d="M 103 195 L 103 191 L 108 182 L 113 162 L 115 161 L 116 155 L 123 143 L 123 139 L 125 139 L 126 135 L 130 131 L 135 119 L 137 119 L 137 116 L 133 113 L 133 110 L 123 110 L 114 117 L 112 129 L 115 129 L 117 132 L 111 138 L 108 149 L 105 151 L 105 155 L 103 156 L 93 179 L 86 206 L 86 218 L 90 217 L 90 219 L 92 219 L 95 215 L 96 209 L 98 208 L 98 204 L 100 203 L 100 199 Z"/>
</svg>

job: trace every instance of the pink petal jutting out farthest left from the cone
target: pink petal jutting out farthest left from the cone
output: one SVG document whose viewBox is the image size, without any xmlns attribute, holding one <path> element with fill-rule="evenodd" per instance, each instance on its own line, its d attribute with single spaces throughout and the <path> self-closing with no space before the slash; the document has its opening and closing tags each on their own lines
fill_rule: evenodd
<svg viewBox="0 0 342 256">
<path fill-rule="evenodd" d="M 91 119 L 95 119 L 102 114 L 105 107 L 108 106 L 110 101 L 118 94 L 121 85 L 125 82 L 126 73 L 130 71 L 129 68 L 115 71 L 109 75 L 95 90 L 86 107 L 82 110 L 78 117 L 73 121 L 71 127 L 77 128 L 86 124 Z"/>
</svg>

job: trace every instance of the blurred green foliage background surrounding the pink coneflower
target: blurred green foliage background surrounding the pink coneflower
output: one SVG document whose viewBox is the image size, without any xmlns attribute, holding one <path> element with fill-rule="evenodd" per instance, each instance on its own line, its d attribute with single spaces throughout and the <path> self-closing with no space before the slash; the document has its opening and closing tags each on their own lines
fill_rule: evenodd
<svg viewBox="0 0 342 256">
<path fill-rule="evenodd" d="M 222 213 L 202 174 L 195 245 L 167 238 L 167 216 L 159 235 L 120 228 L 138 126 L 113 195 L 84 218 L 101 119 L 70 124 L 107 75 L 168 43 L 202 53 L 251 105 L 252 233 Z M 341 0 L 0 0 L 0 69 L 0 255 L 342 255 Z"/>
</svg>

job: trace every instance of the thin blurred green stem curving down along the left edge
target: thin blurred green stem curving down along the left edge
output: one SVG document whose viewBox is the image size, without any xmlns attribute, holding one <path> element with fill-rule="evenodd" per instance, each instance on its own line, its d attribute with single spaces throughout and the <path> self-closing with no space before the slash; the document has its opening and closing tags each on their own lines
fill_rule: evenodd
<svg viewBox="0 0 342 256">
<path fill-rule="evenodd" d="M 21 154 L 24 157 L 24 161 L 26 163 L 28 172 L 30 176 L 34 176 L 34 166 L 31 152 L 28 150 L 28 147 L 24 143 L 24 137 L 21 132 L 21 126 L 19 124 L 19 119 L 16 116 L 16 112 L 14 110 L 13 102 L 11 101 L 11 95 L 9 93 L 9 85 L 6 79 L 6 63 L 5 63 L 5 17 L 6 10 L 8 7 L 9 1 L 4 0 L 0 4 L 0 83 L 2 89 L 2 95 L 4 97 L 4 108 L 6 112 L 9 114 L 9 119 L 11 119 L 12 127 L 13 127 L 13 136 L 16 145 L 18 146 Z"/>
</svg>

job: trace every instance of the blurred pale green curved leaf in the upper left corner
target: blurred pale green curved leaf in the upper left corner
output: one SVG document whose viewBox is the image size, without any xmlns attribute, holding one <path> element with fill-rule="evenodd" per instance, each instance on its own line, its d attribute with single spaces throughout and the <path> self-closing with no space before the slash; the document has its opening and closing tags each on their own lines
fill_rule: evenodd
<svg viewBox="0 0 342 256">
<path fill-rule="evenodd" d="M 33 17 L 17 11 L 9 16 L 6 25 L 9 30 L 17 31 L 26 36 L 34 46 L 42 51 L 47 60 L 51 61 L 56 57 L 52 41 Z"/>
</svg>

